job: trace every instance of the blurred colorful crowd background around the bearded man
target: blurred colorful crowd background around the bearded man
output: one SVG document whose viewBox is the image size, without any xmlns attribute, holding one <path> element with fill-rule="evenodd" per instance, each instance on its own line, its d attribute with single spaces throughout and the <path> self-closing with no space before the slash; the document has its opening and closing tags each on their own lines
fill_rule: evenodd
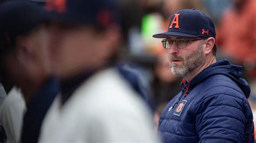
<svg viewBox="0 0 256 143">
<path fill-rule="evenodd" d="M 44 0 L 33 1 L 44 3 Z M 152 38 L 152 35 L 167 31 L 174 12 L 191 8 L 213 19 L 217 32 L 217 60 L 228 59 L 244 67 L 242 77 L 251 85 L 249 101 L 256 116 L 255 0 L 120 0 L 124 38 L 119 59 L 142 79 L 157 118 L 181 90 L 181 78 L 172 75 L 161 39 Z"/>
</svg>

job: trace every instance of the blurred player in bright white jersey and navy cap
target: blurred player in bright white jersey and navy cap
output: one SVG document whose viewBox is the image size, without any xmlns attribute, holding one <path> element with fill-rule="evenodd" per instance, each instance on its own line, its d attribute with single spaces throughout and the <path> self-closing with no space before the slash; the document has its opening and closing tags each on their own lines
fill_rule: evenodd
<svg viewBox="0 0 256 143">
<path fill-rule="evenodd" d="M 109 0 L 46 3 L 53 16 L 50 59 L 62 94 L 46 115 L 39 142 L 158 142 L 149 106 L 115 66 L 116 6 Z"/>
</svg>

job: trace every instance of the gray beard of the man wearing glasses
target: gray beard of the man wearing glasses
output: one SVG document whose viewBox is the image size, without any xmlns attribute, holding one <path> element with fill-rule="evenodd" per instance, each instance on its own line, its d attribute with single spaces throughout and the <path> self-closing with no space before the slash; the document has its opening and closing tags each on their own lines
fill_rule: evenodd
<svg viewBox="0 0 256 143">
<path fill-rule="evenodd" d="M 181 59 L 181 58 L 179 58 L 179 59 Z M 170 69 L 175 76 L 184 76 L 187 73 L 195 70 L 199 66 L 203 65 L 205 60 L 206 60 L 206 58 L 205 58 L 205 55 L 203 52 L 203 46 L 200 45 L 198 47 L 197 51 L 194 51 L 193 53 L 188 55 L 186 60 L 184 60 L 184 59 L 181 60 L 181 62 L 184 65 L 183 67 L 177 68 L 175 63 L 174 64 L 171 63 Z"/>
</svg>

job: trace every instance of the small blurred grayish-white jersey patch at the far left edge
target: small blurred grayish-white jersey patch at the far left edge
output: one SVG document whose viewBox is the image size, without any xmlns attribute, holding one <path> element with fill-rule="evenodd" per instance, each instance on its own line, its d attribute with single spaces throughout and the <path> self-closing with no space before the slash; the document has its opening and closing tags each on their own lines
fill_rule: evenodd
<svg viewBox="0 0 256 143">
<path fill-rule="evenodd" d="M 6 137 L 10 143 L 18 142 L 21 137 L 21 128 L 25 101 L 21 90 L 12 88 L 0 107 L 0 125 L 4 127 Z"/>
</svg>

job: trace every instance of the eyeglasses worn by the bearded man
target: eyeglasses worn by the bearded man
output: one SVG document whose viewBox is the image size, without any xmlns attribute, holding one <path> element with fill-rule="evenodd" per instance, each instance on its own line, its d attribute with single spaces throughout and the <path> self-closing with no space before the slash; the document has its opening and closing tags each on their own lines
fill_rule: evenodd
<svg viewBox="0 0 256 143">
<path fill-rule="evenodd" d="M 204 38 L 192 39 L 192 40 L 186 40 L 186 39 L 176 39 L 176 40 L 163 39 L 162 40 L 162 44 L 163 44 L 163 47 L 165 49 L 170 49 L 172 47 L 173 42 L 175 41 L 175 43 L 176 43 L 178 48 L 186 48 L 187 47 L 187 42 L 201 40 L 201 39 L 204 39 Z"/>
</svg>

